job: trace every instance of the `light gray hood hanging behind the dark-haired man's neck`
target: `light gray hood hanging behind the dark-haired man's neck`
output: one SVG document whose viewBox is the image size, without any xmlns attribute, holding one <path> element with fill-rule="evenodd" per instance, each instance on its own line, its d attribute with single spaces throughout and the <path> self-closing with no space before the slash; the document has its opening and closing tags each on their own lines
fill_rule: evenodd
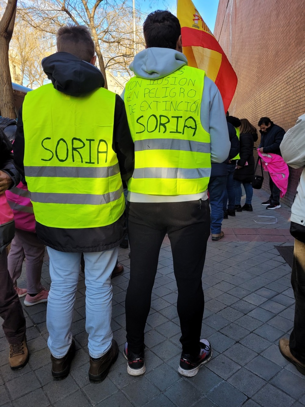
<svg viewBox="0 0 305 407">
<path fill-rule="evenodd" d="M 183 65 L 187 65 L 187 59 L 179 51 L 170 48 L 146 48 L 135 55 L 129 68 L 139 78 L 158 79 L 171 74 Z"/>
</svg>

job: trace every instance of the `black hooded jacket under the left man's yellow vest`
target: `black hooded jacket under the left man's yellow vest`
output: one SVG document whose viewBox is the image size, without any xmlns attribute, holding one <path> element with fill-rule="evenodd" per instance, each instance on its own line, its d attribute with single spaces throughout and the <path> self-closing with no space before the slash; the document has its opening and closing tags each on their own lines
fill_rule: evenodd
<svg viewBox="0 0 305 407">
<path fill-rule="evenodd" d="M 81 97 L 105 85 L 100 70 L 69 53 L 60 52 L 50 55 L 44 58 L 41 64 L 54 88 L 65 94 Z M 102 117 L 102 106 L 100 114 Z M 62 120 L 65 120 L 64 112 Z M 134 169 L 134 144 L 128 127 L 124 102 L 118 95 L 115 97 L 112 148 L 117 154 L 122 180 L 127 181 Z M 17 121 L 14 156 L 15 165 L 24 175 L 22 109 Z M 60 252 L 101 252 L 118 246 L 124 239 L 125 215 L 111 225 L 97 228 L 51 228 L 36 222 L 36 232 L 47 246 Z"/>
</svg>

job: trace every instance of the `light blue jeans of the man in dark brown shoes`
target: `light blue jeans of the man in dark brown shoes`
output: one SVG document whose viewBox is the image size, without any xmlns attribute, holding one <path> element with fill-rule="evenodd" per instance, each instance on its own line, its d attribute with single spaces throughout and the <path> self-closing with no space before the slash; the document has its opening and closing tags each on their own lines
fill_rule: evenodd
<svg viewBox="0 0 305 407">
<path fill-rule="evenodd" d="M 48 295 L 47 328 L 51 354 L 61 358 L 72 342 L 72 319 L 81 253 L 66 253 L 47 247 L 51 287 Z M 84 253 L 86 284 L 86 331 L 91 357 L 98 358 L 111 347 L 112 286 L 110 278 L 118 247 Z"/>
</svg>

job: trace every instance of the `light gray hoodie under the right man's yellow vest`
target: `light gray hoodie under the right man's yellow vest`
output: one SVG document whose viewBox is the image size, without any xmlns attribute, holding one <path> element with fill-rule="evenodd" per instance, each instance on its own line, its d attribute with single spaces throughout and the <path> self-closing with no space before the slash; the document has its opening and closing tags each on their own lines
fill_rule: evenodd
<svg viewBox="0 0 305 407">
<path fill-rule="evenodd" d="M 181 52 L 169 48 L 147 48 L 137 55 L 130 65 L 136 77 L 144 79 L 163 78 L 183 65 L 187 59 Z M 124 92 L 122 93 L 124 98 Z M 230 140 L 227 120 L 220 92 L 211 79 L 205 76 L 200 107 L 200 121 L 211 137 L 211 162 L 223 162 L 228 158 Z M 194 195 L 164 197 L 130 193 L 131 202 L 177 202 L 207 199 L 207 191 Z"/>
</svg>

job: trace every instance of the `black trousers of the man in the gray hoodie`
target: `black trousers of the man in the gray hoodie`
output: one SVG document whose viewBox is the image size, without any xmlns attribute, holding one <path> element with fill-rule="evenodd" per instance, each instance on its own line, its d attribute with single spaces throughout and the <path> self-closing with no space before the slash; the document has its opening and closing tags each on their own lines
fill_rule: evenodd
<svg viewBox="0 0 305 407">
<path fill-rule="evenodd" d="M 126 338 L 129 349 L 144 347 L 144 328 L 164 236 L 168 233 L 178 287 L 177 312 L 183 352 L 198 354 L 204 310 L 202 272 L 210 234 L 208 201 L 127 205 L 131 248 L 126 293 Z"/>
</svg>

